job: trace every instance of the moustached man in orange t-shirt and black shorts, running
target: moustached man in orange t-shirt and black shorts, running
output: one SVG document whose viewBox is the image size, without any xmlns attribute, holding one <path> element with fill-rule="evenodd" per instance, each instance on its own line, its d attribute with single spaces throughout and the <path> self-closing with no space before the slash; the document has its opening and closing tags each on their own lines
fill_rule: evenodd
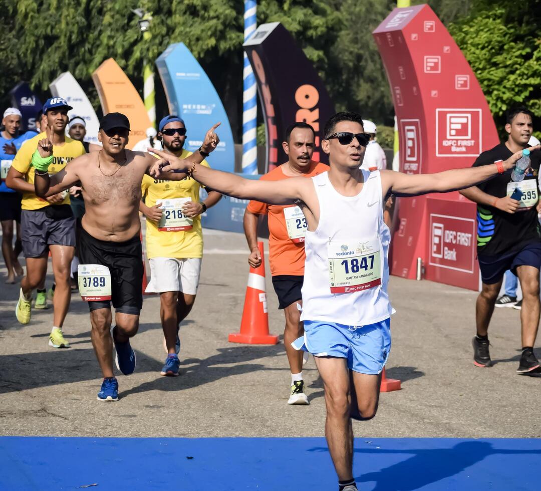
<svg viewBox="0 0 541 491">
<path fill-rule="evenodd" d="M 263 175 L 261 180 L 309 178 L 327 172 L 328 166 L 311 160 L 315 147 L 314 140 L 314 129 L 307 123 L 299 122 L 289 126 L 286 130 L 286 141 L 282 143 L 283 151 L 289 160 Z M 283 343 L 286 346 L 291 369 L 291 396 L 288 404 L 307 405 L 309 402 L 302 380 L 302 351 L 296 351 L 291 345 L 296 338 L 304 335 L 304 326 L 300 320 L 297 304 L 302 305 L 306 219 L 296 205 L 267 205 L 260 201 L 250 201 L 244 214 L 244 232 L 251 251 L 248 263 L 253 267 L 261 264 L 257 229 L 258 215 L 264 214 L 268 215 L 272 284 L 278 296 L 279 308 L 283 309 L 286 316 Z"/>
</svg>

